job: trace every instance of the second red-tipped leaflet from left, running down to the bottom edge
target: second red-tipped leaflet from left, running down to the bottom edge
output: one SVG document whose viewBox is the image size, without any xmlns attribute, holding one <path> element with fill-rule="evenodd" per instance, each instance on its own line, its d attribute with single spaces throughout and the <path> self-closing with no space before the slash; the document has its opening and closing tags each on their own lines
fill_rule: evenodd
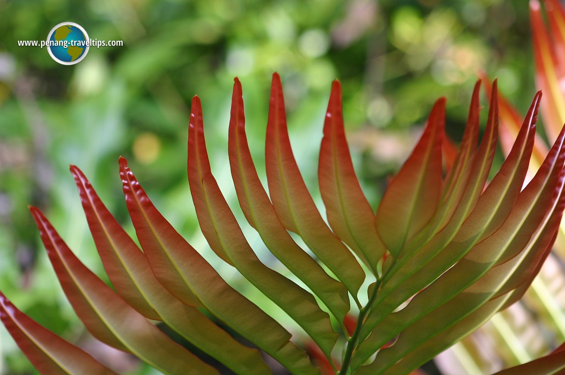
<svg viewBox="0 0 565 375">
<path fill-rule="evenodd" d="M 72 254 L 37 208 L 30 210 L 69 302 L 95 338 L 131 352 L 166 374 L 218 373 L 125 303 Z"/>
</svg>

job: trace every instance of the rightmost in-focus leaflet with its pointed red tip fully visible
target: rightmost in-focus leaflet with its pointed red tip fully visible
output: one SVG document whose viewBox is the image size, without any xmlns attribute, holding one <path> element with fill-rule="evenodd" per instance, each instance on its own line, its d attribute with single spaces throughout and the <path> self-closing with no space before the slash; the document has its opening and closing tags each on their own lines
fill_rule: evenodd
<svg viewBox="0 0 565 375">
<path fill-rule="evenodd" d="M 372 315 L 364 327 L 362 337 L 367 337 L 368 333 L 395 308 L 431 284 L 453 264 L 457 263 L 459 259 L 463 258 L 473 246 L 490 236 L 510 215 L 527 172 L 529 155 L 531 155 L 533 145 L 534 122 L 540 97 L 541 93 L 536 94 L 536 97 L 534 97 L 532 106 L 524 120 L 524 125 L 509 157 L 480 196 L 471 215 L 460 226 L 457 234 L 455 236 L 449 235 L 448 238 L 453 239 L 447 246 L 441 240 L 440 247 L 429 247 L 437 245 L 432 239 L 414 257 L 414 259 L 420 258 L 420 264 L 412 263 L 413 266 L 410 268 L 407 268 L 405 265 L 405 267 L 399 269 L 397 272 L 399 274 L 398 281 L 391 284 L 390 287 L 385 285 L 379 298 L 373 304 L 373 306 L 377 307 L 372 311 Z M 493 98 L 496 98 L 496 95 L 493 95 Z M 494 228 L 494 230 L 491 228 Z M 437 238 L 441 239 L 441 232 Z M 430 255 L 434 256 L 434 258 L 431 258 Z M 414 272 L 414 269 L 416 269 L 416 272 Z M 396 274 L 391 278 L 391 282 L 396 281 L 394 280 L 395 277 L 397 277 Z M 396 293 L 392 293 L 393 291 L 396 291 Z M 369 342 L 371 341 L 377 341 L 377 335 L 373 334 Z M 387 341 L 384 341 L 384 343 Z M 384 345 L 384 343 L 381 345 Z M 364 349 L 359 352 L 363 352 L 363 355 L 359 355 L 360 361 L 355 363 L 357 365 L 363 363 L 380 347 L 376 342 L 366 342 L 362 346 Z"/>
</svg>

